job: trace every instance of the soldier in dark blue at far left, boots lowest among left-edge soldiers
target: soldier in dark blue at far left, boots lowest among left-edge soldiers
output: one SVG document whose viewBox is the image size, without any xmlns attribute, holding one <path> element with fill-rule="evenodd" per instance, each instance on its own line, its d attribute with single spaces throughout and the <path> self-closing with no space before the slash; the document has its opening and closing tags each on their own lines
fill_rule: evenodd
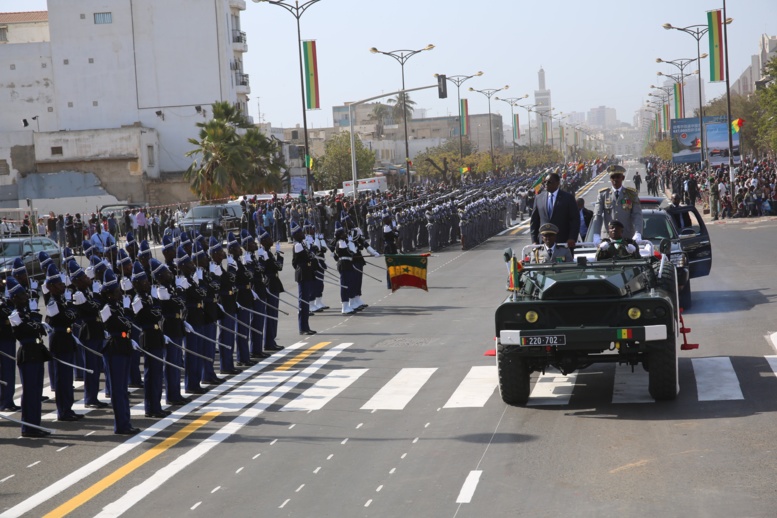
<svg viewBox="0 0 777 518">
<path fill-rule="evenodd" d="M 14 277 L 6 279 L 8 298 L 14 306 L 9 315 L 13 336 L 19 342 L 16 364 L 22 382 L 22 421 L 40 425 L 44 363 L 51 360 L 42 337 L 46 334 L 40 314 L 30 310 L 27 290 Z M 46 437 L 48 432 L 22 425 L 22 437 Z"/>
</svg>

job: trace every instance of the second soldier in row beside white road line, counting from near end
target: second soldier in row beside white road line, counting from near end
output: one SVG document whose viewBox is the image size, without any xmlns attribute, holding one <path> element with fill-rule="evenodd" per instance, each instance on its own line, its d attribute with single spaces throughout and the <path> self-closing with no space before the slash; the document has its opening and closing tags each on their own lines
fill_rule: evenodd
<svg viewBox="0 0 777 518">
<path fill-rule="evenodd" d="M 164 385 L 164 364 L 158 358 L 165 354 L 165 337 L 162 333 L 162 309 L 151 296 L 151 281 L 143 265 L 136 261 L 132 265 L 132 312 L 135 325 L 140 327 L 140 348 L 155 356 L 146 355 L 143 360 L 143 406 L 146 417 L 163 418 L 170 412 L 162 409 L 162 387 Z"/>
</svg>

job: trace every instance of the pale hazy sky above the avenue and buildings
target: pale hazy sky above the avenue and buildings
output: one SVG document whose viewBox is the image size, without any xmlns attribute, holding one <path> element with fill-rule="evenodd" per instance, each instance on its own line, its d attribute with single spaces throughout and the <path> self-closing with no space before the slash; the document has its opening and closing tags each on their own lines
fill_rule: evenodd
<svg viewBox="0 0 777 518">
<path fill-rule="evenodd" d="M 250 75 L 251 115 L 259 120 L 261 106 L 265 122 L 301 125 L 295 19 L 278 6 L 246 3 L 241 20 L 248 36 L 244 71 Z M 757 53 L 760 36 L 777 34 L 777 0 L 728 0 L 726 7 L 734 19 L 728 30 L 733 83 Z M 371 54 L 370 47 L 392 51 L 429 43 L 436 48 L 405 65 L 407 87 L 433 84 L 435 73 L 469 75 L 482 70 L 483 76 L 462 86 L 470 113 L 487 113 L 488 105 L 483 95 L 466 91 L 468 87 L 509 84 L 509 90 L 497 95 L 528 93 L 527 101 L 532 101 L 537 72 L 543 67 L 558 111 L 587 112 L 605 105 L 617 110 L 619 120 L 631 123 L 649 86 L 662 79 L 656 72 L 677 72 L 656 63 L 656 58 L 696 57 L 694 38 L 661 25 L 706 25 L 706 11 L 718 8 L 722 0 L 320 0 L 301 19 L 302 39 L 317 41 L 322 99 L 321 110 L 308 112 L 308 126 L 331 126 L 333 105 L 401 87 L 399 64 Z M 2 11 L 44 9 L 45 0 L 0 0 Z M 702 53 L 707 46 L 705 36 Z M 686 71 L 696 68 L 692 64 Z M 701 71 L 706 82 L 707 60 Z M 724 83 L 707 83 L 705 92 L 707 100 L 718 97 L 725 92 Z M 451 84 L 446 100 L 438 99 L 436 90 L 410 95 L 428 116 L 457 111 Z M 507 104 L 492 100 L 492 111 L 509 123 Z M 522 118 L 526 115 L 525 110 L 519 112 Z"/>
</svg>

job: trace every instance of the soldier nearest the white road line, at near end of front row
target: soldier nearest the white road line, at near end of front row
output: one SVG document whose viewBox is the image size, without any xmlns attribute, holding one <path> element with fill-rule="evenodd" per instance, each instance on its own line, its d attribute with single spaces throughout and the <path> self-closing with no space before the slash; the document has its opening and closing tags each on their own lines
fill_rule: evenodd
<svg viewBox="0 0 777 518">
<path fill-rule="evenodd" d="M 103 347 L 111 377 L 111 405 L 113 406 L 113 433 L 134 435 L 140 428 L 132 426 L 129 403 L 129 369 L 133 343 L 132 322 L 124 314 L 121 289 L 116 274 L 110 268 L 103 276 L 101 295 L 105 305 L 100 310 L 107 340 Z"/>
</svg>

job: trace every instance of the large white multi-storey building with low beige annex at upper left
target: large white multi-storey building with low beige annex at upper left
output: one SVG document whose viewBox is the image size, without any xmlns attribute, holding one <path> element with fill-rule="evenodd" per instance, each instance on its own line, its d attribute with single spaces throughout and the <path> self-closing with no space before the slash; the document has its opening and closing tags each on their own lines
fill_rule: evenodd
<svg viewBox="0 0 777 518">
<path fill-rule="evenodd" d="M 244 0 L 48 0 L 48 9 L 0 14 L 0 186 L 78 170 L 110 191 L 123 172 L 137 177 L 134 201 L 149 201 L 141 178 L 191 164 L 187 139 L 212 102 L 248 114 Z"/>
</svg>

